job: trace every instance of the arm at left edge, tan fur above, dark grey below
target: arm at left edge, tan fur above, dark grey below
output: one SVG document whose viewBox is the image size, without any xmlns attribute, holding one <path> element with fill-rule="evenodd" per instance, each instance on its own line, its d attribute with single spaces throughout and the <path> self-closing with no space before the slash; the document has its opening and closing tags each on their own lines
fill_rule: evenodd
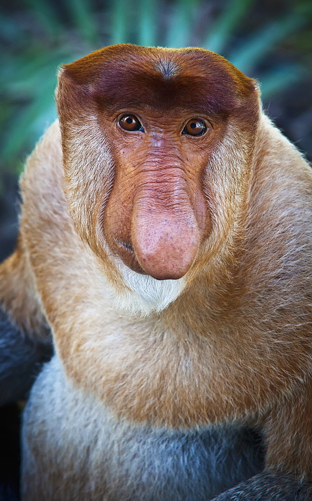
<svg viewBox="0 0 312 501">
<path fill-rule="evenodd" d="M 20 237 L 0 266 L 0 405 L 25 397 L 51 355 L 50 328 Z"/>
</svg>

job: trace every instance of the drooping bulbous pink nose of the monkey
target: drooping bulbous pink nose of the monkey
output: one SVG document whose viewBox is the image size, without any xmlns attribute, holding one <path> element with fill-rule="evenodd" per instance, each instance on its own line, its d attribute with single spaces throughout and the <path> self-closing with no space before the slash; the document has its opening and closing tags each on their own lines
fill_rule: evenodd
<svg viewBox="0 0 312 501">
<path fill-rule="evenodd" d="M 197 221 L 185 192 L 172 208 L 152 197 L 134 201 L 131 239 L 136 258 L 157 280 L 179 279 L 192 266 L 199 246 Z"/>
</svg>

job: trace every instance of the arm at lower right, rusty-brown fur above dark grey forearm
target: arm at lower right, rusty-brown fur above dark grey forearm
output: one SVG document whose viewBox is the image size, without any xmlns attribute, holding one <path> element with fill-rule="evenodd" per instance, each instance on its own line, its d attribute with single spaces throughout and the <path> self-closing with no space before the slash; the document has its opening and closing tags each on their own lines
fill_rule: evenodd
<svg viewBox="0 0 312 501">
<path fill-rule="evenodd" d="M 265 469 L 213 501 L 309 501 L 311 479 L 311 383 L 270 410 L 263 422 Z"/>
</svg>

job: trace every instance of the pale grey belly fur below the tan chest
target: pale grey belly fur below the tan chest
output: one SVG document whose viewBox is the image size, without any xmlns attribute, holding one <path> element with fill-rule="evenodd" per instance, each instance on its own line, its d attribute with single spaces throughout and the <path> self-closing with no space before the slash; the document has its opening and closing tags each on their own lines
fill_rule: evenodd
<svg viewBox="0 0 312 501">
<path fill-rule="evenodd" d="M 24 420 L 24 499 L 206 501 L 262 467 L 256 436 L 240 425 L 169 431 L 118 420 L 72 386 L 57 358 Z"/>
</svg>

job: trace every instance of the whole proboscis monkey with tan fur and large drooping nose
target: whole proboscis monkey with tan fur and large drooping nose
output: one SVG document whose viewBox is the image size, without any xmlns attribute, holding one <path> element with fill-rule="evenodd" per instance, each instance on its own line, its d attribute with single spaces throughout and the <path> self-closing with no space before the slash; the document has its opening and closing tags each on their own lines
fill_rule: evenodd
<svg viewBox="0 0 312 501">
<path fill-rule="evenodd" d="M 0 269 L 56 351 L 23 500 L 312 499 L 312 176 L 257 83 L 116 45 L 64 66 L 57 104 Z"/>
</svg>

